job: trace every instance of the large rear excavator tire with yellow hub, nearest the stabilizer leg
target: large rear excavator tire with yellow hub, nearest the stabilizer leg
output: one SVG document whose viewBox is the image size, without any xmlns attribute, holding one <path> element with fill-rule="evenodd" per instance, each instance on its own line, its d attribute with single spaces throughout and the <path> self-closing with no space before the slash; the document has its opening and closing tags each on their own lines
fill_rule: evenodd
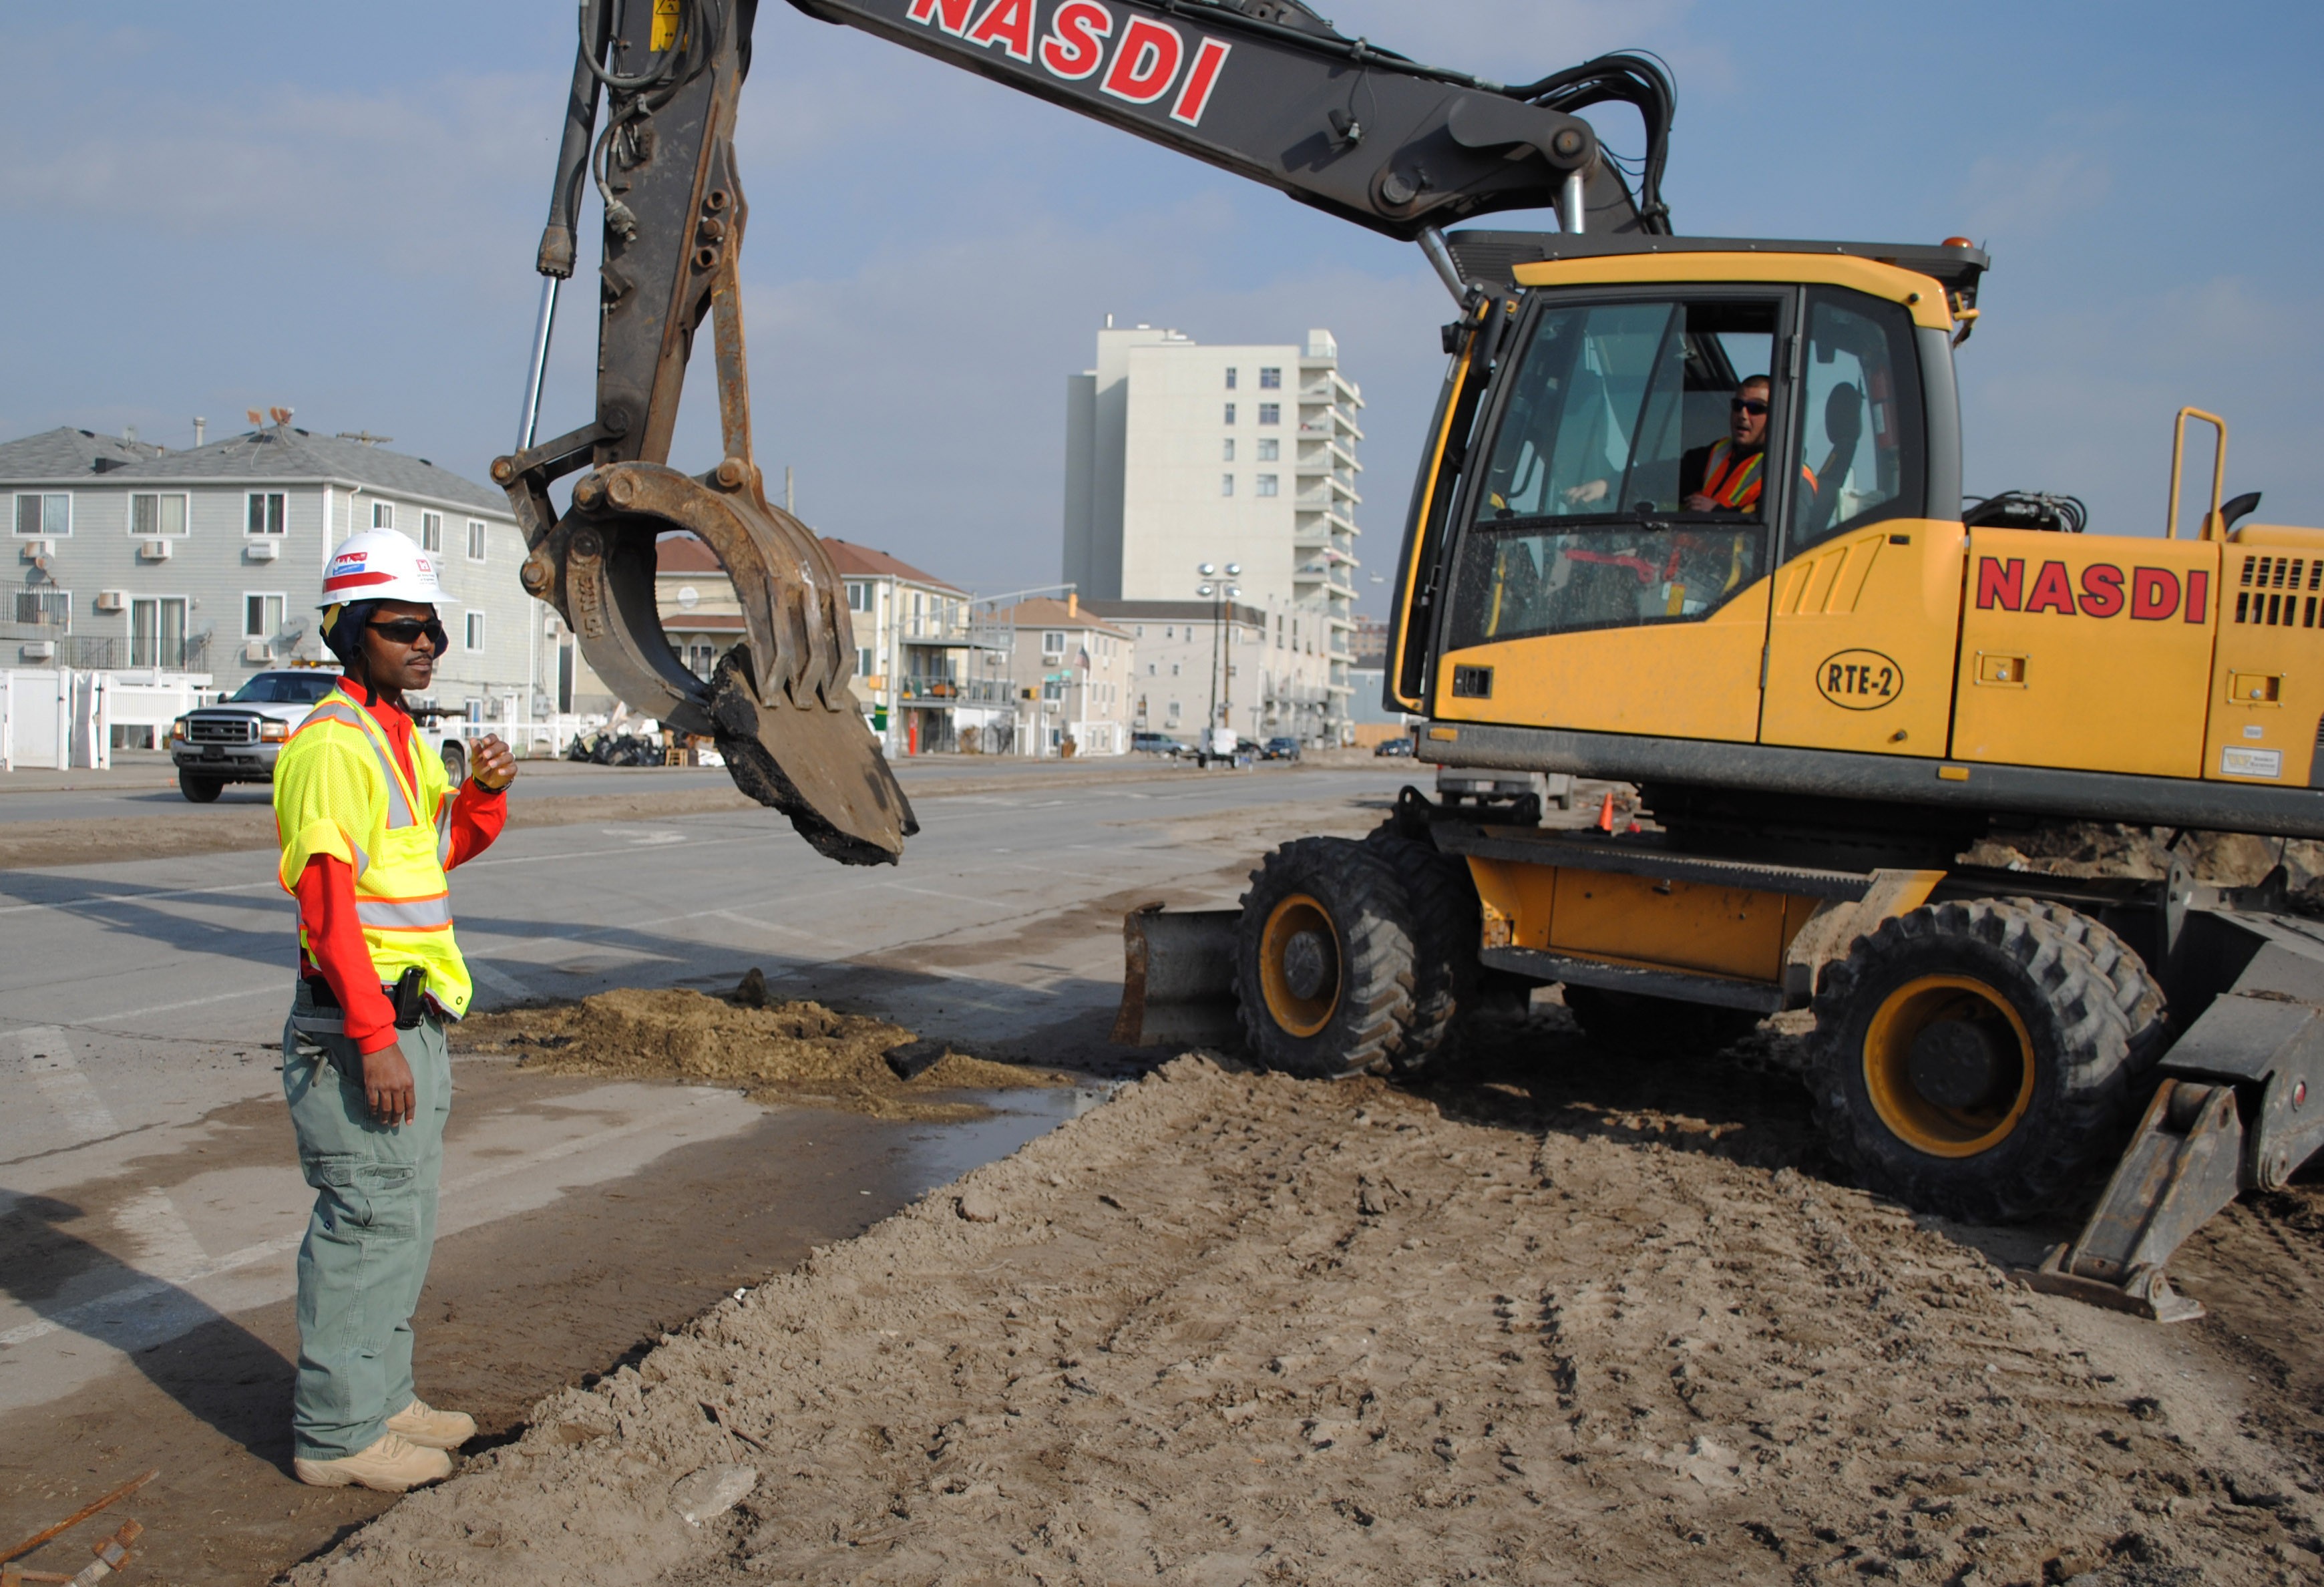
<svg viewBox="0 0 2324 1587">
<path fill-rule="evenodd" d="M 2031 899 L 1931 904 L 1824 969 L 1810 1085 L 1831 1152 L 1924 1213 L 2022 1222 L 2119 1148 L 2131 1027 Z"/>
</svg>

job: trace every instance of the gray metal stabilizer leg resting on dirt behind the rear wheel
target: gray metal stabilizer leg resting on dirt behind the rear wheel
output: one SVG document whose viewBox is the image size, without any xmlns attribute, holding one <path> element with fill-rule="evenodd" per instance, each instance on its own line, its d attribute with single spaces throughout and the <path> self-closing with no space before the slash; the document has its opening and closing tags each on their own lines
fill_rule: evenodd
<svg viewBox="0 0 2324 1587">
<path fill-rule="evenodd" d="M 2189 911 L 2182 953 L 2231 988 L 2161 1060 L 2161 1085 L 2082 1234 L 2027 1283 L 2157 1322 L 2203 1308 L 2164 1264 L 2243 1190 L 2282 1190 L 2324 1148 L 2324 936 L 2305 920 Z"/>
</svg>

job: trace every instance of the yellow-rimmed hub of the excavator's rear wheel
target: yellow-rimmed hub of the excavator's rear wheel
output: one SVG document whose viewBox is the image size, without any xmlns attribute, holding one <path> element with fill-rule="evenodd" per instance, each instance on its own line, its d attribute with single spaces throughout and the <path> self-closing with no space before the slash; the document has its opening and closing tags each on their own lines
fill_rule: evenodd
<svg viewBox="0 0 2324 1587">
<path fill-rule="evenodd" d="M 2001 1146 L 2033 1101 L 2033 1039 L 1973 976 L 1917 976 L 1864 1032 L 1864 1090 L 1899 1141 L 1931 1157 Z"/>
</svg>

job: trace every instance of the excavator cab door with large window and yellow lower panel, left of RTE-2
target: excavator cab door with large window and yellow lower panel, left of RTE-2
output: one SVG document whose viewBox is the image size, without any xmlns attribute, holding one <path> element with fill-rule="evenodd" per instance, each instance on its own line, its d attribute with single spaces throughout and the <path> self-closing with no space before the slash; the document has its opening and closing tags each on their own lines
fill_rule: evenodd
<svg viewBox="0 0 2324 1587">
<path fill-rule="evenodd" d="M 1690 511 L 1680 486 L 1789 332 L 1794 297 L 1536 290 L 1457 509 L 1432 716 L 1757 737 L 1769 523 Z"/>
</svg>

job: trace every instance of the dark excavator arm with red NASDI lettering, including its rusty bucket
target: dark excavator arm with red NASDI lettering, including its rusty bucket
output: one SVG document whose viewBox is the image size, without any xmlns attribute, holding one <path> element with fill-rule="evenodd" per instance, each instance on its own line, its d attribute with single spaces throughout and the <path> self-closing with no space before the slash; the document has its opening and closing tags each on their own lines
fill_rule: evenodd
<svg viewBox="0 0 2324 1587">
<path fill-rule="evenodd" d="M 1557 207 L 1566 230 L 1664 232 L 1669 79 L 1604 56 L 1504 86 L 1350 40 L 1297 0 L 792 0 L 1106 121 L 1299 202 L 1418 239 L 1473 300 L 1439 228 Z M 518 451 L 493 462 L 525 532 L 525 588 L 555 604 L 616 695 L 713 734 L 734 783 L 820 853 L 895 862 L 911 804 L 858 716 L 844 586 L 823 544 L 767 502 L 751 448 L 739 256 L 748 218 L 734 107 L 758 0 L 581 0 L 572 93 L 537 270 L 546 277 Z M 1576 112 L 1645 123 L 1636 193 Z M 576 267 L 583 184 L 602 211 L 597 407 L 537 441 L 555 288 Z M 711 321 L 720 462 L 669 467 L 695 332 Z M 569 507 L 551 486 L 579 474 Z M 655 541 L 704 539 L 734 581 L 744 639 L 709 681 L 653 602 Z"/>
</svg>

